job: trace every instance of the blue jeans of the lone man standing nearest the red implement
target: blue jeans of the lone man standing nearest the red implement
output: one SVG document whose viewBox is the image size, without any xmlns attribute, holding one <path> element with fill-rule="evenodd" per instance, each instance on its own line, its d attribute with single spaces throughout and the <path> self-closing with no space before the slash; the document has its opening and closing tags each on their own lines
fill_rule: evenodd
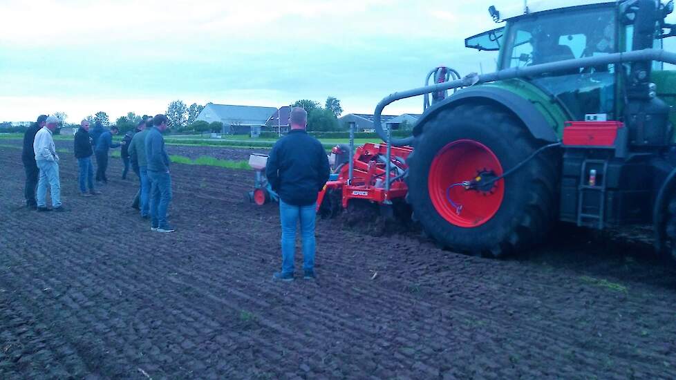
<svg viewBox="0 0 676 380">
<path fill-rule="evenodd" d="M 293 274 L 296 254 L 296 225 L 300 221 L 303 240 L 303 270 L 314 270 L 314 217 L 316 204 L 294 206 L 279 200 L 282 227 L 282 274 Z"/>
</svg>

